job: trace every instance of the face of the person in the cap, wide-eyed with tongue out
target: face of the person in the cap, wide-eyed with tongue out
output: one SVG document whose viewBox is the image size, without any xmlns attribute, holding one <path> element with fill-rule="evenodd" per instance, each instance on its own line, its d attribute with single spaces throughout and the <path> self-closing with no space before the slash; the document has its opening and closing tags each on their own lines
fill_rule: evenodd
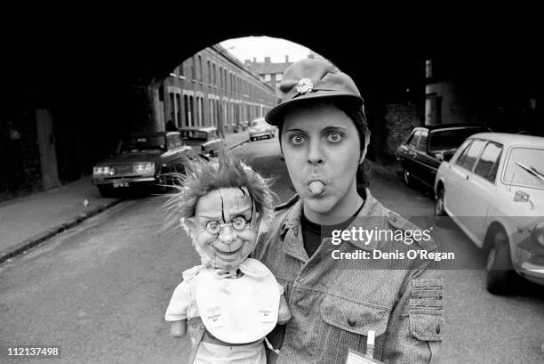
<svg viewBox="0 0 544 364">
<path fill-rule="evenodd" d="M 357 196 L 356 171 L 363 159 L 348 115 L 331 104 L 289 110 L 281 138 L 285 164 L 305 208 L 347 214 L 345 207 Z"/>
</svg>

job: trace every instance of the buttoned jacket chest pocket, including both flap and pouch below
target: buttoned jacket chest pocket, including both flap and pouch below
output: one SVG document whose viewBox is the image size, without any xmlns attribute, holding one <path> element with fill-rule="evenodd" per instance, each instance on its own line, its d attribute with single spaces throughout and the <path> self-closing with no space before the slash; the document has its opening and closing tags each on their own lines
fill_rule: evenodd
<svg viewBox="0 0 544 364">
<path fill-rule="evenodd" d="M 365 303 L 351 301 L 338 296 L 327 295 L 321 306 L 322 328 L 318 350 L 319 362 L 343 363 L 348 348 L 366 352 L 366 338 L 369 330 L 376 336 L 376 357 L 380 356 L 383 335 L 388 327 L 390 310 Z"/>
</svg>

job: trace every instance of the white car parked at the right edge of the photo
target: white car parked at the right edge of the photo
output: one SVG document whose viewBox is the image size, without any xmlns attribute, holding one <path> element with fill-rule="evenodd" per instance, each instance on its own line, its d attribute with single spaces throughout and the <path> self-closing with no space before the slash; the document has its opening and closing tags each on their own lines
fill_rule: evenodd
<svg viewBox="0 0 544 364">
<path fill-rule="evenodd" d="M 544 284 L 544 138 L 472 135 L 438 168 L 435 195 L 436 219 L 488 252 L 490 292 L 508 293 L 514 271 Z"/>
</svg>

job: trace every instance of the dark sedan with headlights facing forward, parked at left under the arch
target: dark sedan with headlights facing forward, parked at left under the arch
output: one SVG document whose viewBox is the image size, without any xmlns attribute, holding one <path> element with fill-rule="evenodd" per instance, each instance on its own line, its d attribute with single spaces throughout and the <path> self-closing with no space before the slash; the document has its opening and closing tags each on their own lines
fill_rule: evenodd
<svg viewBox="0 0 544 364">
<path fill-rule="evenodd" d="M 179 132 L 139 133 L 122 138 L 115 153 L 92 168 L 92 183 L 104 197 L 128 189 L 163 190 L 168 174 L 184 172 L 183 156 L 193 158 Z"/>
</svg>

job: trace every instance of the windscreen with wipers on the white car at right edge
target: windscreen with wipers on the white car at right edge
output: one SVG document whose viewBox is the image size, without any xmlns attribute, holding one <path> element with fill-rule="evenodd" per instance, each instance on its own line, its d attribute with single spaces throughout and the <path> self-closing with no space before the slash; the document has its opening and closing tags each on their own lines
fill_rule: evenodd
<svg viewBox="0 0 544 364">
<path fill-rule="evenodd" d="M 504 182 L 542 189 L 544 188 L 541 179 L 543 175 L 544 150 L 514 148 L 510 151 L 504 172 Z"/>
</svg>

